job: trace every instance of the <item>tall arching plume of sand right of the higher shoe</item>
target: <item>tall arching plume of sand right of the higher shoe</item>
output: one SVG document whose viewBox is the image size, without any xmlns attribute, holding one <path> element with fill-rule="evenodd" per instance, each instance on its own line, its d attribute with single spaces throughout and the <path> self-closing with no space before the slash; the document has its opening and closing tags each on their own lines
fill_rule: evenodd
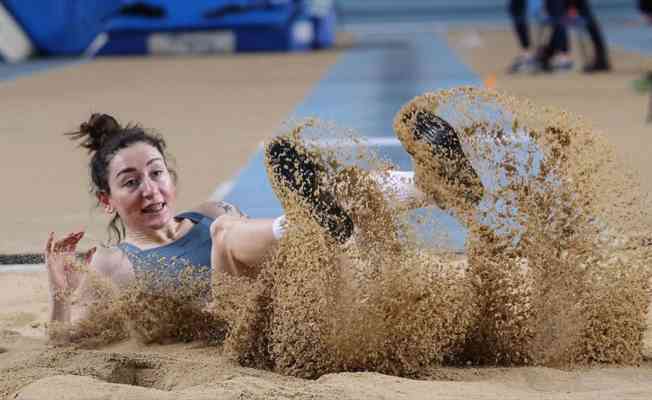
<svg viewBox="0 0 652 400">
<path fill-rule="evenodd" d="M 479 213 L 460 204 L 459 189 L 443 190 L 470 231 L 468 272 L 480 309 L 465 358 L 640 362 L 649 306 L 650 249 L 640 241 L 649 236 L 646 208 L 604 140 L 563 111 L 473 88 L 421 96 L 403 113 L 412 108 L 451 115 L 493 183 Z M 399 137 L 407 135 L 397 125 Z M 496 154 L 505 146 L 509 153 Z M 445 187 L 437 174 L 422 174 L 422 185 Z"/>
</svg>

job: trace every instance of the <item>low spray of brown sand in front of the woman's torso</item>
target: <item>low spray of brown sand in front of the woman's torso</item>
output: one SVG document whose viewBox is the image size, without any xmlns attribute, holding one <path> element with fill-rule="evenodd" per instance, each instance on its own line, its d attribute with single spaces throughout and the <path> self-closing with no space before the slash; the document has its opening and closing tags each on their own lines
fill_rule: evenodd
<svg viewBox="0 0 652 400">
<path fill-rule="evenodd" d="M 160 262 L 166 265 L 164 259 Z M 84 318 L 73 325 L 51 324 L 50 339 L 55 344 L 71 343 L 79 348 L 99 347 L 129 337 L 145 344 L 221 342 L 224 322 L 207 309 L 210 283 L 196 279 L 196 271 L 187 267 L 178 279 L 141 274 L 121 290 L 89 273 L 89 293 L 72 299 L 86 303 Z"/>
</svg>

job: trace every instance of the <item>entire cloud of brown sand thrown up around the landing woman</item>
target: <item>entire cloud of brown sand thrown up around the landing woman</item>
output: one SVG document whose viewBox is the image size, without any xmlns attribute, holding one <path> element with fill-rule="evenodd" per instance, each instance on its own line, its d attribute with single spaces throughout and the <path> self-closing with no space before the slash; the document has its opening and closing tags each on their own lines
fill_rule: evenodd
<svg viewBox="0 0 652 400">
<path fill-rule="evenodd" d="M 441 160 L 422 154 L 432 162 L 415 165 L 419 187 L 468 227 L 466 260 L 413 239 L 406 210 L 369 178 L 387 171 L 386 160 L 361 152 L 359 138 L 309 121 L 287 136 L 326 166 L 327 186 L 356 224 L 354 240 L 331 240 L 300 199 L 277 187 L 288 234 L 255 279 L 213 277 L 212 313 L 206 288 L 192 280 L 156 294 L 140 285 L 102 292 L 114 300 L 64 337 L 87 345 L 133 333 L 145 342 L 225 337 L 225 353 L 241 365 L 309 378 L 424 376 L 441 364 L 640 362 L 646 208 L 635 177 L 600 136 L 563 111 L 460 88 L 420 96 L 397 116 L 397 136 L 418 152 L 427 151 L 409 131 L 418 109 L 447 119 L 483 171 L 476 206 L 466 201 L 478 195 L 463 186 L 468 179 L 442 178 Z M 324 149 L 311 129 L 356 146 Z"/>
</svg>

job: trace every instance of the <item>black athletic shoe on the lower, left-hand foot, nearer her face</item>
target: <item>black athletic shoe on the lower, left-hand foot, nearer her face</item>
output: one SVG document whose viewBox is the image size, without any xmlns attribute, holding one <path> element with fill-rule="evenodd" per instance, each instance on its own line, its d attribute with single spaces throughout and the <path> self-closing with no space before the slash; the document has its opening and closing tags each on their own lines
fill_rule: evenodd
<svg viewBox="0 0 652 400">
<path fill-rule="evenodd" d="M 304 149 L 283 137 L 272 140 L 265 153 L 270 178 L 303 198 L 317 223 L 333 239 L 344 243 L 353 234 L 353 221 L 320 181 L 324 167 L 311 159 Z"/>
</svg>

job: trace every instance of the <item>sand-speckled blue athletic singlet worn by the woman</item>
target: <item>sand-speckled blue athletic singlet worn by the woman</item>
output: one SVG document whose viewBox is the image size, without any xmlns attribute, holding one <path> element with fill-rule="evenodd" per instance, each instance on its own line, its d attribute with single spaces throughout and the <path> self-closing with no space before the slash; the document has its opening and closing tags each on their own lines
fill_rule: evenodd
<svg viewBox="0 0 652 400">
<path fill-rule="evenodd" d="M 118 248 L 129 257 L 137 277 L 152 274 L 157 279 L 178 282 L 181 272 L 188 270 L 193 276 L 210 282 L 213 219 L 194 211 L 181 213 L 176 218 L 189 219 L 195 225 L 174 242 L 147 250 L 123 242 Z"/>
</svg>

